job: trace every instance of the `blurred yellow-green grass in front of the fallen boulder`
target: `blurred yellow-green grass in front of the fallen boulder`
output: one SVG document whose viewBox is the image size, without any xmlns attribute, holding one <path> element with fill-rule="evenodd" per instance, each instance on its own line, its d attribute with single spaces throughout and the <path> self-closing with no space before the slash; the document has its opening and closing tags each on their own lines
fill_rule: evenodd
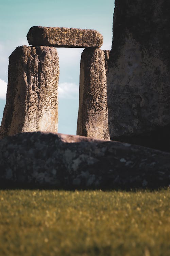
<svg viewBox="0 0 170 256">
<path fill-rule="evenodd" d="M 170 191 L 0 190 L 0 255 L 169 256 Z"/>
</svg>

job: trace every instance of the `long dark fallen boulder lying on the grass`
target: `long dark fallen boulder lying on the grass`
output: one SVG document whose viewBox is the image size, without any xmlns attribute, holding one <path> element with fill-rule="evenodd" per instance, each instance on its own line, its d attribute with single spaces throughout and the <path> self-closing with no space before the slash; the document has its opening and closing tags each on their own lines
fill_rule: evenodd
<svg viewBox="0 0 170 256">
<path fill-rule="evenodd" d="M 170 184 L 170 153 L 115 141 L 20 133 L 0 141 L 0 187 L 158 188 Z"/>
</svg>

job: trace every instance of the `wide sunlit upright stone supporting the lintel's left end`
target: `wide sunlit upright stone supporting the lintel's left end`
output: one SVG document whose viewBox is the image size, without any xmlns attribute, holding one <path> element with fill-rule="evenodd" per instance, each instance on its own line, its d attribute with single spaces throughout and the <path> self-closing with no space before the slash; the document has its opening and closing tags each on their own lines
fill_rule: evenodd
<svg viewBox="0 0 170 256">
<path fill-rule="evenodd" d="M 54 47 L 20 46 L 9 57 L 0 138 L 26 131 L 57 132 L 58 54 Z"/>
</svg>

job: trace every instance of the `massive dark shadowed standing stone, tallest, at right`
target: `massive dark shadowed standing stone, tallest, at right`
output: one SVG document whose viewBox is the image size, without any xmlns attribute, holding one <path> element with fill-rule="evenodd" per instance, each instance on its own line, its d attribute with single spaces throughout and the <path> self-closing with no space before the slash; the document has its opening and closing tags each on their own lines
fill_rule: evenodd
<svg viewBox="0 0 170 256">
<path fill-rule="evenodd" d="M 170 151 L 170 1 L 116 0 L 108 63 L 112 140 Z"/>
</svg>

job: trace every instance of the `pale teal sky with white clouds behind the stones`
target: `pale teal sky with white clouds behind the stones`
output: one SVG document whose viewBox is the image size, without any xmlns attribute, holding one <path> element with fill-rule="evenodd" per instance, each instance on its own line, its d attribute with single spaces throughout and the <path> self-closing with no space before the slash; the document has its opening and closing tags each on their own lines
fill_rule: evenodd
<svg viewBox="0 0 170 256">
<path fill-rule="evenodd" d="M 17 46 L 29 45 L 32 26 L 96 29 L 101 49 L 112 45 L 114 0 L 0 0 L 0 123 L 6 102 L 8 57 Z M 57 48 L 60 62 L 58 132 L 76 134 L 80 59 L 83 48 Z"/>
</svg>

